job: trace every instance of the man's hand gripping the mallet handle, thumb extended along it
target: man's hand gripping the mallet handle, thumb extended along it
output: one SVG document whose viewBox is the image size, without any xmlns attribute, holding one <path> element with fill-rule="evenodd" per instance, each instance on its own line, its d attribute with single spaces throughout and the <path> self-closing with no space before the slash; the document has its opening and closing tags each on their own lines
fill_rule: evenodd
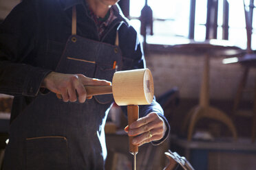
<svg viewBox="0 0 256 170">
<path fill-rule="evenodd" d="M 92 79 L 85 77 L 82 74 L 63 74 L 52 72 L 49 73 L 43 80 L 42 87 L 61 95 L 63 101 L 78 101 L 85 102 L 85 99 L 90 99 L 92 96 L 87 96 L 84 85 L 108 86 L 111 82 L 106 80 Z"/>
</svg>

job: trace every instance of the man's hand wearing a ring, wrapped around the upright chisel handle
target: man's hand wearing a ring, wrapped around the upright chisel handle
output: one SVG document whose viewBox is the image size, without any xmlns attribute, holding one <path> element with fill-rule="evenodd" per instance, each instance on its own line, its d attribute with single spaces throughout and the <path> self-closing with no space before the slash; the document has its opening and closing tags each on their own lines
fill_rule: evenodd
<svg viewBox="0 0 256 170">
<path fill-rule="evenodd" d="M 146 117 L 142 117 L 125 127 L 125 131 L 128 132 L 128 136 L 136 136 L 132 143 L 140 146 L 144 143 L 160 140 L 167 131 L 167 127 L 158 114 L 151 112 Z"/>
</svg>

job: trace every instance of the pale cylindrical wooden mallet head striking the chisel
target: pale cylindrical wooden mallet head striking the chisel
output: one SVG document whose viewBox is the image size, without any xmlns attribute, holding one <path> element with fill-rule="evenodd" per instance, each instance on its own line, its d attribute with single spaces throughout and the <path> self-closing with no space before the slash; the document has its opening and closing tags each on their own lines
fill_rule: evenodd
<svg viewBox="0 0 256 170">
<path fill-rule="evenodd" d="M 118 71 L 112 80 L 112 90 L 118 106 L 151 104 L 154 94 L 151 71 Z"/>
</svg>

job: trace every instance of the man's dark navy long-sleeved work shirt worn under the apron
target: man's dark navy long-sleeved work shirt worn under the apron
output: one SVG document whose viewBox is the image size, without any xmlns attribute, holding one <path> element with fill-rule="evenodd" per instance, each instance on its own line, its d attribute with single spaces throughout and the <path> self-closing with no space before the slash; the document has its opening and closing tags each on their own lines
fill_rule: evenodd
<svg viewBox="0 0 256 170">
<path fill-rule="evenodd" d="M 44 77 L 56 68 L 72 32 L 73 5 L 76 5 L 78 36 L 114 45 L 118 29 L 122 70 L 145 68 L 138 34 L 118 5 L 111 7 L 116 19 L 105 29 L 103 38 L 99 38 L 84 0 L 23 0 L 0 25 L 0 93 L 14 95 L 11 121 L 40 93 Z M 141 111 L 144 116 L 157 112 L 167 123 L 155 100 L 142 106 Z M 164 138 L 168 134 L 169 130 Z"/>
</svg>

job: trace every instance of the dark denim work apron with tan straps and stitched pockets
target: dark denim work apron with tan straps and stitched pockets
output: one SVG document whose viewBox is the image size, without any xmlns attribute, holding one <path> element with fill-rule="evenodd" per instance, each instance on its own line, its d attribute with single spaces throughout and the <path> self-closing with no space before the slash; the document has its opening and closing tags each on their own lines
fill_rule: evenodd
<svg viewBox="0 0 256 170">
<path fill-rule="evenodd" d="M 55 71 L 111 81 L 121 59 L 118 31 L 116 45 L 76 35 L 74 7 L 72 36 Z M 54 93 L 39 94 L 10 125 L 3 169 L 104 169 L 104 127 L 113 101 L 101 95 L 65 103 Z"/>
</svg>

